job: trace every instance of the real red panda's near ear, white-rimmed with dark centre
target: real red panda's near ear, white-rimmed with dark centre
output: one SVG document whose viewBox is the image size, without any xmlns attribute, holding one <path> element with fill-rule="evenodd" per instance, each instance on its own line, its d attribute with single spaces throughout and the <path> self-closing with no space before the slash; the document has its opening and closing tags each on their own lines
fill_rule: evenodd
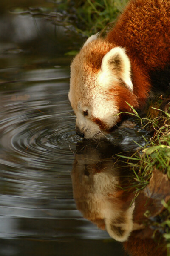
<svg viewBox="0 0 170 256">
<path fill-rule="evenodd" d="M 121 47 L 114 47 L 102 59 L 101 76 L 103 81 L 112 83 L 115 80 L 122 80 L 125 86 L 133 92 L 133 84 L 130 78 L 130 60 Z M 107 84 L 105 84 L 107 86 Z"/>
</svg>

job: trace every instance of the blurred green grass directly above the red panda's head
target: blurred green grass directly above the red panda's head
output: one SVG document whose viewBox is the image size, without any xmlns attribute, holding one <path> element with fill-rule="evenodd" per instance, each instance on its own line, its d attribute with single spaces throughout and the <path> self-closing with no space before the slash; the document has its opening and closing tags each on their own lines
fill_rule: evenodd
<svg viewBox="0 0 170 256">
<path fill-rule="evenodd" d="M 99 31 L 105 32 L 122 12 L 127 0 L 87 0 L 79 1 L 76 6 L 80 26 L 77 31 L 89 37 Z M 83 25 L 82 25 L 83 24 Z"/>
</svg>

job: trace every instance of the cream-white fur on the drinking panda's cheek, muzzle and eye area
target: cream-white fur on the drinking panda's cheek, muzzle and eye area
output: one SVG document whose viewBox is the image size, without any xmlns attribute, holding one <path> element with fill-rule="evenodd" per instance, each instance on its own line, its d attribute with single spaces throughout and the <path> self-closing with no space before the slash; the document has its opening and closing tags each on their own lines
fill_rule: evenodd
<svg viewBox="0 0 170 256">
<path fill-rule="evenodd" d="M 85 135 L 84 138 L 86 139 L 100 138 L 106 133 L 92 120 L 99 119 L 109 129 L 119 121 L 119 115 L 117 115 L 119 111 L 116 103 L 113 100 L 109 101 L 104 95 L 103 88 L 99 85 L 98 75 L 96 78 L 89 77 L 88 84 L 93 85 L 91 90 L 88 90 L 89 86 L 85 86 L 85 88 L 81 88 L 82 92 L 80 90 L 77 92 L 79 101 L 77 102 L 77 109 L 74 109 L 77 116 L 76 127 Z M 87 97 L 81 97 L 81 94 L 87 95 Z M 75 96 L 70 90 L 68 97 L 71 102 L 75 102 Z M 86 102 L 88 102 L 88 106 L 84 104 Z M 88 110 L 88 115 L 84 116 L 83 111 L 86 110 Z"/>
</svg>

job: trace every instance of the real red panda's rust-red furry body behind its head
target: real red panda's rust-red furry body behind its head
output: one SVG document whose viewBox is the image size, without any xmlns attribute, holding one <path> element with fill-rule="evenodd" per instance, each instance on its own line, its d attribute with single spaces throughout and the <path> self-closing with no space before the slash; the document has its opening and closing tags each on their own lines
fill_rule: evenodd
<svg viewBox="0 0 170 256">
<path fill-rule="evenodd" d="M 130 1 L 106 40 L 126 49 L 139 109 L 150 91 L 170 89 L 170 1 Z"/>
</svg>

